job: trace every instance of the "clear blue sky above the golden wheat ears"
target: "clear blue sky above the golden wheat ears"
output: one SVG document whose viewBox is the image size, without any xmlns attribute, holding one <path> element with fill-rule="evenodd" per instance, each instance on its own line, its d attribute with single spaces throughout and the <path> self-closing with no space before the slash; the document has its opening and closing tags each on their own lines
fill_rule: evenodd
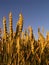
<svg viewBox="0 0 49 65">
<path fill-rule="evenodd" d="M 49 0 L 0 0 L 0 27 L 2 18 L 6 16 L 7 25 L 9 12 L 13 14 L 13 29 L 15 31 L 19 13 L 24 17 L 24 28 L 32 26 L 37 37 L 38 27 L 44 27 L 44 36 L 49 31 Z"/>
</svg>

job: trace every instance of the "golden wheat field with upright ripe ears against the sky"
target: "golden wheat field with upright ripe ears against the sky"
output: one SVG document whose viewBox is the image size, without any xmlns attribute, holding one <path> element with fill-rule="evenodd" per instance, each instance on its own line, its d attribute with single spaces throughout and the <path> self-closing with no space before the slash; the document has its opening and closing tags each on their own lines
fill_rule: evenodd
<svg viewBox="0 0 49 65">
<path fill-rule="evenodd" d="M 35 40 L 31 26 L 22 31 L 23 20 L 20 13 L 14 32 L 10 12 L 8 32 L 6 17 L 3 17 L 3 33 L 0 29 L 0 65 L 49 65 L 49 33 L 44 38 L 38 28 L 38 40 Z"/>
</svg>

